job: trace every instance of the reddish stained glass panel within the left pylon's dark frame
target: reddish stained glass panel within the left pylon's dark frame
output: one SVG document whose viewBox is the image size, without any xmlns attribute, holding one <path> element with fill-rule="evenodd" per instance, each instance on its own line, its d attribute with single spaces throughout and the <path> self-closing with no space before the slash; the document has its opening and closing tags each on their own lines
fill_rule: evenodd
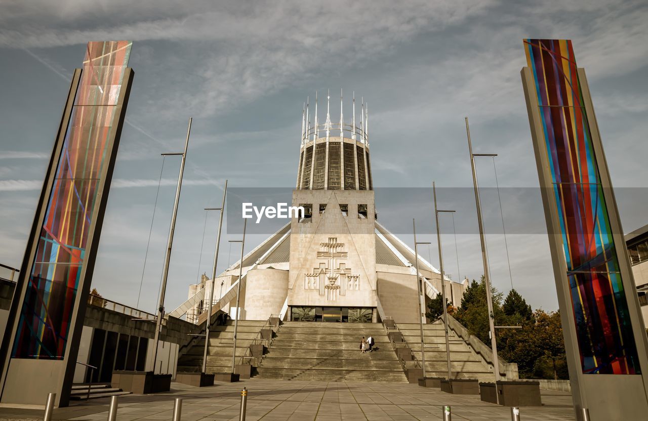
<svg viewBox="0 0 648 421">
<path fill-rule="evenodd" d="M 14 358 L 63 359 L 87 240 L 95 227 L 100 177 L 117 130 L 130 41 L 87 44 L 36 256 L 21 306 Z"/>
</svg>

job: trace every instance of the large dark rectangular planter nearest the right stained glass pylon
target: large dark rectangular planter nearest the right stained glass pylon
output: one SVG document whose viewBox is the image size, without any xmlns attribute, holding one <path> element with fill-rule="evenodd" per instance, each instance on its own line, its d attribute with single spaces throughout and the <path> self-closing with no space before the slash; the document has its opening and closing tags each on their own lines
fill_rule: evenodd
<svg viewBox="0 0 648 421">
<path fill-rule="evenodd" d="M 480 394 L 483 402 L 503 406 L 542 406 L 540 400 L 539 381 L 498 381 L 495 383 L 480 383 Z"/>
</svg>

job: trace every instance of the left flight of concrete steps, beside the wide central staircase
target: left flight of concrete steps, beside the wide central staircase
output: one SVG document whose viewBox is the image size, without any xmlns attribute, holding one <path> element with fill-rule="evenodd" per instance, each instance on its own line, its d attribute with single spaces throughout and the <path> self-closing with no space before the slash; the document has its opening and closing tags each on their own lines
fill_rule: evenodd
<svg viewBox="0 0 648 421">
<path fill-rule="evenodd" d="M 236 363 L 246 354 L 249 345 L 266 324 L 265 320 L 238 321 Z M 206 372 L 232 371 L 232 346 L 234 341 L 234 321 L 227 321 L 223 326 L 213 326 L 209 332 L 209 348 L 207 348 Z M 200 372 L 202 369 L 205 337 L 200 337 L 196 343 L 178 358 L 178 372 Z M 249 356 L 249 354 L 248 354 Z"/>
</svg>

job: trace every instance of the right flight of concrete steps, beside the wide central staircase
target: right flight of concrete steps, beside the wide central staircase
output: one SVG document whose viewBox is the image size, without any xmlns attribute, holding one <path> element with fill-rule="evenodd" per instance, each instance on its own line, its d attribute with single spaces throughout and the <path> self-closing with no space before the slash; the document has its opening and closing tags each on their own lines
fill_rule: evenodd
<svg viewBox="0 0 648 421">
<path fill-rule="evenodd" d="M 412 354 L 421 362 L 421 328 L 417 323 L 397 323 L 397 327 L 411 348 Z M 425 343 L 425 369 L 427 377 L 446 377 L 448 363 L 446 361 L 445 336 L 443 323 L 423 325 Z M 448 331 L 450 344 L 450 367 L 452 377 L 458 379 L 478 379 L 480 381 L 493 381 L 493 371 L 480 355 L 470 345 L 461 341 L 452 329 Z M 407 363 L 408 368 L 415 362 Z"/>
</svg>

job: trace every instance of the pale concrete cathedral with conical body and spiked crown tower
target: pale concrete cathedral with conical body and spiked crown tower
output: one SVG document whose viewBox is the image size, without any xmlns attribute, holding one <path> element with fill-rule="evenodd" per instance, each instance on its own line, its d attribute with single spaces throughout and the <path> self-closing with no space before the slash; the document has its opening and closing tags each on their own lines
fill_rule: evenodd
<svg viewBox="0 0 648 421">
<path fill-rule="evenodd" d="M 241 319 L 280 315 L 292 321 L 375 322 L 393 317 L 419 323 L 415 255 L 376 220 L 368 113 L 364 102 L 351 124 L 330 118 L 330 95 L 324 122 L 305 104 L 296 188 L 292 205 L 305 208 L 304 218 L 273 234 L 243 258 Z M 311 119 L 314 124 L 311 124 Z M 211 282 L 203 277 L 189 289 L 189 300 L 171 315 L 202 323 L 212 313 L 236 306 L 237 262 Z M 427 299 L 441 291 L 441 275 L 419 256 Z M 445 280 L 448 300 L 459 305 L 467 281 Z M 222 299 L 220 299 L 222 297 Z M 199 303 L 199 304 L 195 304 Z"/>
</svg>

